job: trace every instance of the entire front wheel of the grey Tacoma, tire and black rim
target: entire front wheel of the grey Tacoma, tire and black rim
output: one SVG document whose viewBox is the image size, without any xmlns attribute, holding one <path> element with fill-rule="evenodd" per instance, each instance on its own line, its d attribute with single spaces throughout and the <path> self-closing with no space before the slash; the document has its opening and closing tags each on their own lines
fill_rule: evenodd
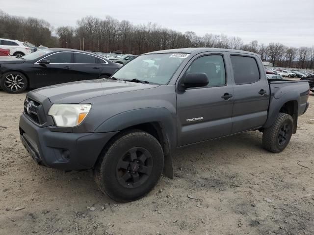
<svg viewBox="0 0 314 235">
<path fill-rule="evenodd" d="M 163 150 L 157 139 L 133 130 L 114 138 L 101 153 L 94 169 L 95 181 L 113 200 L 133 201 L 154 188 L 163 164 Z"/>
</svg>

